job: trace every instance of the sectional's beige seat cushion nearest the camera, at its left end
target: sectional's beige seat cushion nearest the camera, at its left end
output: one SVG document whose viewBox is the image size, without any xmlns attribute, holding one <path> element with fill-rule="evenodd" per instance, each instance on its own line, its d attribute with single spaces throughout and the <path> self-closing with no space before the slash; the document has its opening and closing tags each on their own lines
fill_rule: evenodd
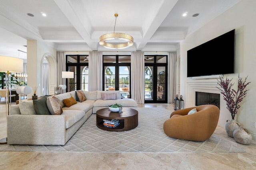
<svg viewBox="0 0 256 170">
<path fill-rule="evenodd" d="M 82 110 L 63 110 L 61 115 L 66 117 L 66 129 L 70 128 L 77 121 L 84 117 L 85 113 Z"/>
</svg>

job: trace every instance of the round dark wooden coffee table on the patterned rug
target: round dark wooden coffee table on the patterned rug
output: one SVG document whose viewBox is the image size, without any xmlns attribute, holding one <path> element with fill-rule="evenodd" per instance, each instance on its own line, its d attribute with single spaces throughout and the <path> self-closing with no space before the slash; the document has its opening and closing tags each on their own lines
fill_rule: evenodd
<svg viewBox="0 0 256 170">
<path fill-rule="evenodd" d="M 123 107 L 123 113 L 112 112 L 108 108 L 96 111 L 96 125 L 106 131 L 128 131 L 138 126 L 138 111 Z M 103 119 L 117 119 L 120 125 L 114 128 L 105 127 Z"/>
</svg>

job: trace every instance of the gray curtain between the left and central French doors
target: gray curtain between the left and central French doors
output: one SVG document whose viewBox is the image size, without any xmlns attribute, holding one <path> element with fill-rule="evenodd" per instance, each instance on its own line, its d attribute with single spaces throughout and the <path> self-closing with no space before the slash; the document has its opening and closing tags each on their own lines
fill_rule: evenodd
<svg viewBox="0 0 256 170">
<path fill-rule="evenodd" d="M 102 90 L 102 51 L 89 52 L 88 91 Z"/>
</svg>

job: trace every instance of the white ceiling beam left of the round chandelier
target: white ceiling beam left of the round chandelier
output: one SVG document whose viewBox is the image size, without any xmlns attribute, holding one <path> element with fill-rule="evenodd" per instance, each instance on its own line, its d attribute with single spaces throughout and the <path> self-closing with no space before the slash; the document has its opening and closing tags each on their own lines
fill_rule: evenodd
<svg viewBox="0 0 256 170">
<path fill-rule="evenodd" d="M 63 14 L 78 31 L 84 42 L 88 44 L 91 50 L 97 50 L 98 45 L 91 39 L 94 31 L 92 24 L 85 12 L 84 5 L 81 0 L 54 0 L 57 6 L 62 10 Z M 74 10 L 76 9 L 76 10 Z"/>
</svg>

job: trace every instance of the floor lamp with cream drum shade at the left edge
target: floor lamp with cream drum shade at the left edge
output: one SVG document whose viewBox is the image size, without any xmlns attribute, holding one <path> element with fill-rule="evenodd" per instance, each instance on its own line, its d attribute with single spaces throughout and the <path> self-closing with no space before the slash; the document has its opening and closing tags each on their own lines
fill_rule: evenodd
<svg viewBox="0 0 256 170">
<path fill-rule="evenodd" d="M 10 114 L 11 104 L 11 72 L 23 72 L 23 60 L 15 57 L 0 56 L 0 72 L 6 72 L 6 130 L 7 116 Z M 7 144 L 7 137 L 0 140 L 0 144 Z"/>
</svg>

